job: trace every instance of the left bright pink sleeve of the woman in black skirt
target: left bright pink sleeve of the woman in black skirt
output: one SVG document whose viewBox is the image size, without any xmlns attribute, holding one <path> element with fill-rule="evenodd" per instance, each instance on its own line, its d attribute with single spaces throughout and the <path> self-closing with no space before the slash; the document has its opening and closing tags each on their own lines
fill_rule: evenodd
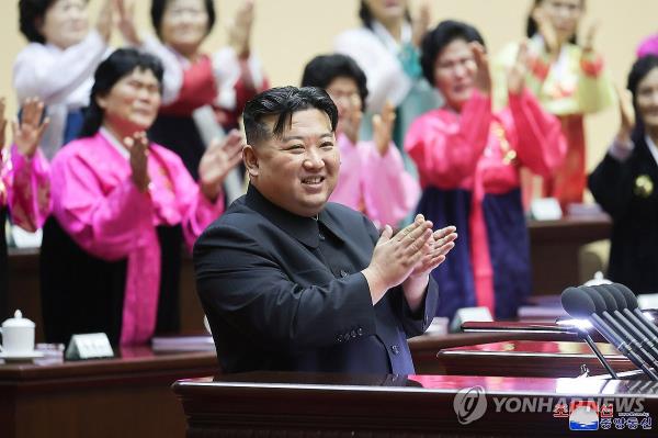
<svg viewBox="0 0 658 438">
<path fill-rule="evenodd" d="M 53 213 L 73 240 L 97 257 L 127 257 L 144 244 L 144 231 L 154 226 L 150 195 L 129 176 L 105 192 L 88 162 L 66 155 L 55 157 L 52 181 Z"/>
</svg>

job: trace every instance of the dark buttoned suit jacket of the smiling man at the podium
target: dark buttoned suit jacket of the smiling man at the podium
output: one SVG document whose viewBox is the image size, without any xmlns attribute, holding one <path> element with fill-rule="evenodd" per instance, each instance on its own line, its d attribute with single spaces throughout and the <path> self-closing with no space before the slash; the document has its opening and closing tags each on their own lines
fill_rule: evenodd
<svg viewBox="0 0 658 438">
<path fill-rule="evenodd" d="M 322 233 L 333 256 L 320 251 Z M 362 214 L 328 203 L 318 221 L 269 202 L 256 188 L 194 246 L 196 288 L 225 372 L 412 373 L 407 338 L 438 302 L 430 280 L 412 315 L 401 288 L 375 306 L 365 277 L 378 234 Z"/>
</svg>

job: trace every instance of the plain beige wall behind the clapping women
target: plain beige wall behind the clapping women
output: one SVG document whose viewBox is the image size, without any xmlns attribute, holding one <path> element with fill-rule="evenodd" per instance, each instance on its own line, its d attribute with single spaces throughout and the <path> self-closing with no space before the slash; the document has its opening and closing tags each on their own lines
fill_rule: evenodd
<svg viewBox="0 0 658 438">
<path fill-rule="evenodd" d="M 137 21 L 150 32 L 148 0 L 137 1 Z M 433 22 L 453 18 L 472 22 L 485 35 L 491 53 L 524 32 L 525 14 L 532 0 L 430 0 Z M 90 0 L 92 21 L 101 0 Z M 358 24 L 358 0 L 256 0 L 257 22 L 253 46 L 263 60 L 273 85 L 296 85 L 304 64 L 314 55 L 331 49 L 333 36 Z M 412 10 L 419 1 L 411 0 Z M 10 113 L 15 111 L 11 90 L 11 66 L 25 45 L 19 33 L 18 1 L 0 1 L 0 29 L 3 33 L 0 59 L 0 94 L 8 96 Z M 218 21 L 207 41 L 207 48 L 225 41 L 225 23 L 232 16 L 239 0 L 218 0 Z M 637 42 L 658 31 L 657 0 L 588 0 L 585 24 L 600 23 L 597 48 L 608 61 L 614 80 L 624 83 Z M 116 44 L 120 38 L 115 37 Z M 61 72 L 66 74 L 66 72 Z M 604 145 L 615 132 L 616 111 L 608 110 L 588 120 L 589 167 L 595 165 Z"/>
</svg>

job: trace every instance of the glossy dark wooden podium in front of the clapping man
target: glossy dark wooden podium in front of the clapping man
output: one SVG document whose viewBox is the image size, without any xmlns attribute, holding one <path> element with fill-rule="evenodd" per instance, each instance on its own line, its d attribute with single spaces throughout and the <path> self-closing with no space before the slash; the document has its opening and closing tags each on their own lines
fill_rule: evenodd
<svg viewBox="0 0 658 438">
<path fill-rule="evenodd" d="M 468 389 L 486 406 L 461 424 L 455 405 L 473 412 L 457 397 Z M 564 437 L 569 418 L 556 417 L 556 406 L 589 398 L 617 406 L 626 398 L 637 408 L 640 397 L 643 415 L 658 418 L 658 384 L 647 381 L 246 373 L 179 381 L 173 390 L 188 416 L 188 438 Z M 632 433 L 656 435 L 639 423 Z M 592 436 L 619 434 L 612 427 Z"/>
</svg>

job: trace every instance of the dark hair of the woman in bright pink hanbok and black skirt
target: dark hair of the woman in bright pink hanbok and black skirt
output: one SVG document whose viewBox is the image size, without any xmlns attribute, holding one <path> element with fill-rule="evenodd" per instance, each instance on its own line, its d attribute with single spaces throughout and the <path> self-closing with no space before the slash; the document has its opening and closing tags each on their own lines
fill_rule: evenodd
<svg viewBox="0 0 658 438">
<path fill-rule="evenodd" d="M 84 122 L 82 123 L 79 137 L 94 135 L 103 124 L 103 109 L 99 106 L 97 97 L 107 94 L 116 82 L 132 74 L 136 68 L 152 71 L 158 82 L 160 82 L 160 92 L 162 91 L 163 69 L 159 58 L 135 48 L 118 48 L 114 50 L 95 70 L 89 106 L 84 109 Z"/>
</svg>

